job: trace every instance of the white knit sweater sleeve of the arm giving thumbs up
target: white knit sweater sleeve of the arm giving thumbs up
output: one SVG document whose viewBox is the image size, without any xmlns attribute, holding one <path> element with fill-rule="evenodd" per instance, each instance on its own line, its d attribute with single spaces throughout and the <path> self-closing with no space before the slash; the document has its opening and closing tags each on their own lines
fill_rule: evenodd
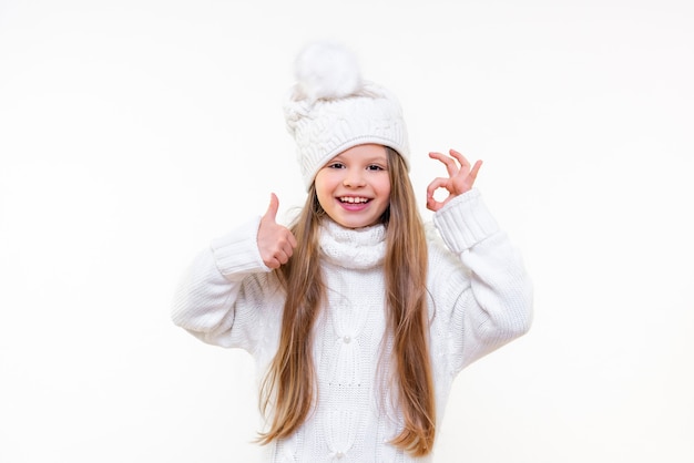
<svg viewBox="0 0 694 463">
<path fill-rule="evenodd" d="M 200 253 L 177 286 L 172 320 L 204 342 L 252 350 L 273 285 L 257 248 L 259 217 Z"/>
</svg>

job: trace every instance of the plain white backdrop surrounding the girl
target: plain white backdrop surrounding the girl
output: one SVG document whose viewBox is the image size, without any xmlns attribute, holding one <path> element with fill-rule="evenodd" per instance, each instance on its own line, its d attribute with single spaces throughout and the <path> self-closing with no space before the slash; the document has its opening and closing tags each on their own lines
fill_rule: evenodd
<svg viewBox="0 0 694 463">
<path fill-rule="evenodd" d="M 0 0 L 0 461 L 251 462 L 244 352 L 175 328 L 208 240 L 303 203 L 282 103 L 337 39 L 478 186 L 535 285 L 437 462 L 694 461 L 687 0 Z M 425 217 L 429 217 L 423 210 Z"/>
</svg>

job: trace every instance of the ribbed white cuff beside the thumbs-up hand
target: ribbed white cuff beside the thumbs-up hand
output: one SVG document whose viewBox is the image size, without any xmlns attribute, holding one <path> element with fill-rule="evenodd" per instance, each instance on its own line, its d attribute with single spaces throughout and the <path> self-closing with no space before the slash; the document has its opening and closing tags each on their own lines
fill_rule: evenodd
<svg viewBox="0 0 694 463">
<path fill-rule="evenodd" d="M 258 216 L 234 232 L 212 240 L 212 254 L 222 275 L 271 271 L 271 268 L 263 264 L 258 250 L 259 224 Z"/>
</svg>

